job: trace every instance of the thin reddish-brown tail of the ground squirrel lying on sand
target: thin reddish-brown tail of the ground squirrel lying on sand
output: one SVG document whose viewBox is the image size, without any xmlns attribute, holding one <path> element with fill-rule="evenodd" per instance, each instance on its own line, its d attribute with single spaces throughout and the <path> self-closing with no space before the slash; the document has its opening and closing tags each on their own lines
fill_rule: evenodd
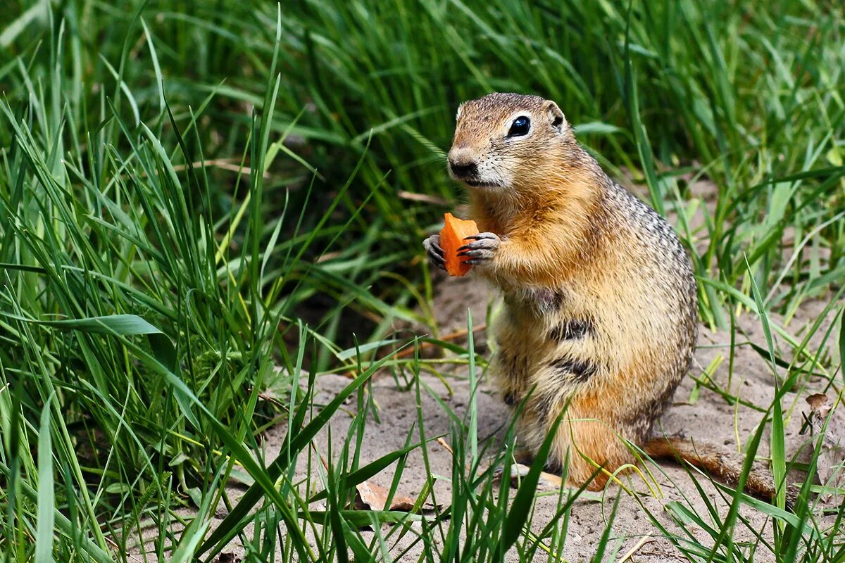
<svg viewBox="0 0 845 563">
<path fill-rule="evenodd" d="M 739 476 L 742 474 L 742 467 L 733 463 L 724 453 L 718 452 L 715 447 L 707 444 L 693 444 L 686 438 L 651 438 L 642 446 L 642 450 L 652 459 L 670 459 L 690 463 L 693 467 L 705 471 L 714 479 L 722 481 L 726 485 L 738 485 Z M 771 502 L 775 498 L 777 490 L 771 475 L 751 471 L 745 479 L 744 493 L 755 496 L 762 501 Z M 793 487 L 788 487 L 788 508 L 792 508 L 796 495 L 797 491 Z"/>
</svg>

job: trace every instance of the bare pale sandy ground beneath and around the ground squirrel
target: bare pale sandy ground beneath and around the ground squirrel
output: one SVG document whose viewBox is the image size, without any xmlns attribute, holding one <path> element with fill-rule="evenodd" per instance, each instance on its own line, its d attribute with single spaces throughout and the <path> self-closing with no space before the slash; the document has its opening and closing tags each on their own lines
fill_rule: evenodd
<svg viewBox="0 0 845 563">
<path fill-rule="evenodd" d="M 702 201 L 706 201 L 706 190 L 700 194 Z M 693 224 L 699 223 L 698 220 L 693 221 Z M 493 291 L 488 290 L 482 284 L 479 284 L 467 277 L 466 279 L 449 279 L 436 285 L 439 295 L 435 295 L 433 303 L 433 311 L 436 321 L 439 325 L 439 334 L 455 333 L 463 328 L 466 328 L 466 311 L 472 311 L 473 323 L 478 326 L 486 321 L 489 304 L 495 303 L 497 298 Z M 456 296 L 460 296 L 460 301 L 456 300 Z M 468 297 L 467 297 L 468 296 Z M 469 299 L 467 301 L 467 298 Z M 788 321 L 787 330 L 799 340 L 804 336 L 804 331 L 808 323 L 815 322 L 820 317 L 826 303 L 818 300 L 811 300 L 805 302 L 804 306 L 796 312 L 795 316 Z M 494 306 L 493 306 L 494 308 Z M 826 328 L 834 320 L 835 311 L 829 313 L 822 323 L 822 327 L 815 337 L 810 340 L 808 349 L 815 353 L 821 348 L 825 349 L 824 355 L 833 355 L 834 357 L 828 365 L 838 365 L 838 360 L 835 357 L 835 345 L 832 342 L 826 342 L 823 346 L 821 338 L 826 333 Z M 774 322 L 781 323 L 780 317 L 773 317 Z M 834 331 L 834 335 L 835 335 Z M 755 316 L 745 313 L 739 318 L 739 333 L 737 335 L 737 343 L 739 344 L 735 349 L 735 356 L 733 359 L 733 372 L 728 370 L 729 344 L 730 336 L 726 332 L 711 332 L 709 328 L 701 327 L 701 335 L 699 338 L 699 349 L 695 355 L 695 366 L 691 371 L 694 376 L 701 376 L 702 371 L 709 365 L 717 364 L 716 371 L 712 374 L 712 379 L 716 382 L 717 387 L 727 389 L 731 394 L 739 396 L 744 401 L 755 405 L 767 406 L 771 403 L 771 398 L 774 393 L 774 378 L 772 375 L 771 362 L 761 356 L 754 348 L 746 344 L 753 342 L 759 346 L 766 348 L 766 339 L 762 331 L 760 320 Z M 461 343 L 461 339 L 456 339 L 456 342 Z M 485 351 L 485 331 L 483 328 L 477 330 L 476 344 L 477 349 L 486 353 Z M 778 345 L 782 344 L 782 340 L 778 339 Z M 789 347 L 779 348 L 779 352 L 786 360 L 791 359 L 791 354 L 788 351 Z M 829 350 L 829 351 L 828 351 Z M 822 355 L 822 357 L 824 357 Z M 721 359 L 721 360 L 719 360 Z M 780 376 L 784 376 L 785 369 L 778 368 Z M 437 377 L 423 373 L 421 375 L 421 382 L 425 386 L 430 387 L 431 392 L 423 394 L 422 409 L 425 414 L 425 425 L 428 436 L 437 434 L 448 434 L 451 428 L 451 421 L 449 415 L 444 411 L 444 408 L 435 400 L 434 396 L 439 398 L 444 405 L 451 409 L 458 416 L 466 414 L 467 404 L 469 403 L 470 386 L 466 377 L 466 366 L 457 366 L 454 370 L 445 368 L 444 373 L 447 376 L 447 381 L 451 387 L 452 392 L 447 390 Z M 323 376 L 319 378 L 319 396 L 316 398 L 316 403 L 327 403 L 335 396 L 335 394 L 349 383 L 349 379 L 343 376 Z M 722 447 L 728 454 L 733 454 L 733 457 L 741 461 L 742 457 L 739 452 L 742 451 L 745 441 L 747 441 L 752 433 L 755 431 L 757 425 L 760 424 L 762 414 L 755 410 L 745 407 L 743 405 L 735 406 L 729 403 L 728 400 L 722 398 L 717 392 L 712 392 L 706 388 L 698 390 L 697 398 L 693 396 L 693 389 L 695 382 L 691 376 L 685 377 L 675 395 L 673 406 L 668 410 L 668 413 L 662 417 L 661 427 L 666 434 L 673 434 L 676 432 L 684 432 L 686 436 L 690 436 L 695 441 L 707 442 L 712 445 Z M 795 389 L 793 393 L 788 393 L 783 401 L 783 408 L 786 414 L 786 428 L 787 428 L 787 452 L 788 456 L 797 455 L 799 458 L 802 455 L 799 453 L 804 450 L 806 453 L 806 445 L 809 435 L 801 435 L 802 427 L 802 412 L 809 410 L 805 398 L 814 392 L 820 392 L 824 388 L 824 381 L 821 379 L 814 379 L 804 387 Z M 405 446 L 406 436 L 411 431 L 412 425 L 417 421 L 417 404 L 414 392 L 408 392 L 397 387 L 395 379 L 390 374 L 377 374 L 373 377 L 371 392 L 373 400 L 378 407 L 379 422 L 373 420 L 370 415 L 366 433 L 363 439 L 362 448 L 360 450 L 361 465 L 369 463 L 388 452 L 401 449 Z M 831 398 L 834 392 L 828 392 Z M 346 413 L 339 413 L 331 420 L 330 425 L 319 434 L 315 441 L 315 451 L 319 452 L 323 457 L 329 457 L 329 448 L 331 442 L 332 457 L 336 458 L 337 453 L 340 452 L 341 444 L 344 441 L 346 432 L 349 429 L 350 421 L 352 420 L 351 413 L 354 411 L 354 403 L 347 405 Z M 837 409 L 834 415 L 842 420 L 843 409 Z M 493 441 L 501 439 L 501 427 L 504 421 L 508 420 L 510 416 L 509 410 L 497 397 L 494 390 L 489 387 L 488 383 L 482 380 L 482 392 L 477 396 L 477 413 L 478 413 L 478 435 L 480 437 L 490 437 Z M 266 451 L 266 459 L 275 458 L 279 451 L 280 442 L 285 436 L 286 429 L 284 427 L 276 427 L 268 430 L 264 436 L 264 448 Z M 331 438 L 330 438 L 331 436 Z M 769 433 L 766 430 L 764 433 L 764 441 L 760 445 L 758 452 L 758 459 L 760 468 L 765 468 L 765 457 L 768 452 Z M 429 463 L 431 464 L 432 472 L 439 475 L 450 475 L 452 471 L 452 456 L 444 447 L 438 444 L 433 444 L 428 448 Z M 667 509 L 668 503 L 679 502 L 683 506 L 688 506 L 692 512 L 708 517 L 708 508 L 706 501 L 698 492 L 693 479 L 697 481 L 697 485 L 705 491 L 706 499 L 710 501 L 713 506 L 717 507 L 719 517 L 724 517 L 728 511 L 728 503 L 724 500 L 717 488 L 711 484 L 709 479 L 702 476 L 693 478 L 690 473 L 674 463 L 660 463 L 659 466 L 651 466 L 651 474 L 657 478 L 659 489 L 662 491 L 660 495 L 652 495 L 641 479 L 625 478 L 624 481 L 633 489 L 637 491 L 637 498 L 629 495 L 619 488 L 618 485 L 610 485 L 607 494 L 603 500 L 599 495 L 586 495 L 584 498 L 575 502 L 572 507 L 569 529 L 566 536 L 566 541 L 562 552 L 559 554 L 564 560 L 581 561 L 589 560 L 594 553 L 594 545 L 597 544 L 602 532 L 604 531 L 607 517 L 613 501 L 617 495 L 621 495 L 619 499 L 619 509 L 613 521 L 613 534 L 611 546 L 615 550 L 613 560 L 629 560 L 629 561 L 672 561 L 685 560 L 679 549 L 671 544 L 667 539 L 662 538 L 662 533 L 655 527 L 651 519 L 646 515 L 644 510 L 647 509 L 652 515 L 671 532 L 679 532 L 679 524 L 671 517 L 670 511 Z M 371 481 L 377 485 L 389 487 L 393 479 L 394 466 L 391 466 L 379 474 Z M 401 482 L 399 486 L 399 493 L 401 495 L 408 495 L 416 497 L 423 489 L 423 484 L 428 478 L 425 467 L 423 465 L 422 453 L 418 450 L 412 452 L 408 457 L 406 468 L 402 473 Z M 802 479 L 803 476 L 793 475 L 793 478 Z M 297 466 L 297 479 L 311 479 L 314 489 L 319 490 L 321 485 L 319 477 L 316 474 L 308 474 L 308 466 L 306 458 L 303 457 Z M 541 490 L 550 490 L 551 486 L 541 485 Z M 243 488 L 234 486 L 230 489 L 232 500 L 237 500 L 237 497 L 243 494 Z M 438 502 L 448 505 L 450 498 L 449 484 L 446 480 L 440 479 L 437 481 L 435 487 L 435 494 Z M 539 532 L 549 520 L 553 518 L 558 507 L 557 495 L 539 495 L 537 497 L 536 512 L 533 519 L 533 530 Z M 215 521 L 211 522 L 211 528 L 214 528 L 220 522 L 220 518 L 226 515 L 226 511 L 219 510 L 216 514 Z M 188 514 L 186 514 L 188 516 Z M 750 506 L 742 506 L 741 517 L 744 523 L 740 523 L 737 531 L 734 533 L 734 539 L 743 542 L 747 541 L 750 544 L 755 543 L 755 535 L 751 533 L 750 528 L 755 530 L 764 530 L 764 536 L 771 539 L 772 522 L 761 512 L 756 511 Z M 820 526 L 823 528 L 825 519 L 820 519 Z M 715 528 L 721 528 L 717 523 Z M 711 546 L 712 539 L 701 528 L 694 524 L 687 524 L 684 526 L 686 530 L 693 534 L 695 541 L 700 542 L 704 546 Z M 385 530 L 387 528 L 384 528 Z M 365 533 L 365 537 L 368 537 Z M 371 536 L 369 536 L 371 537 Z M 412 539 L 412 534 L 408 534 L 406 539 L 400 542 L 400 545 L 393 549 L 393 553 L 397 553 L 397 549 L 402 549 Z M 749 555 L 748 547 L 742 547 L 744 554 Z M 410 552 L 403 558 L 403 560 L 417 560 L 420 553 L 420 548 L 417 545 L 412 548 Z M 230 544 L 224 551 L 225 557 L 221 559 L 221 563 L 237 561 L 243 556 L 243 547 L 236 542 Z M 512 550 L 508 554 L 508 560 L 518 560 L 517 555 Z M 543 560 L 547 560 L 543 557 Z M 753 554 L 755 561 L 774 560 L 765 546 L 758 546 Z"/>
</svg>

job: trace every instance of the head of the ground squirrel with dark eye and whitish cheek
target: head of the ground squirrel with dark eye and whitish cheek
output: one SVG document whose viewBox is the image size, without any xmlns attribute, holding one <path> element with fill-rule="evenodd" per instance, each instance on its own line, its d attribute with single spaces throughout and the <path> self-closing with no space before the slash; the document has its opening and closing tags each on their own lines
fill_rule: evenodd
<svg viewBox="0 0 845 563">
<path fill-rule="evenodd" d="M 579 157 L 570 124 L 553 101 L 493 93 L 458 107 L 449 173 L 474 191 L 512 197 L 553 188 Z"/>
</svg>

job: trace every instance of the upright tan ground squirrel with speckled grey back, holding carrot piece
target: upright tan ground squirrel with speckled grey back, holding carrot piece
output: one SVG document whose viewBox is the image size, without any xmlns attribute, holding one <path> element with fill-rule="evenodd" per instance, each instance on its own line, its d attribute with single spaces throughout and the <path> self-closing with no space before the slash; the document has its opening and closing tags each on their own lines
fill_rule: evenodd
<svg viewBox="0 0 845 563">
<path fill-rule="evenodd" d="M 585 484 L 594 463 L 608 472 L 635 463 L 619 436 L 651 457 L 681 457 L 735 480 L 737 466 L 713 448 L 652 435 L 698 330 L 695 276 L 666 220 L 612 181 L 559 107 L 538 96 L 462 104 L 448 160 L 482 231 L 459 255 L 504 294 L 490 370 L 505 403 L 525 401 L 523 445 L 536 452 L 565 410 L 550 465 L 569 457 L 569 485 Z M 442 267 L 438 235 L 423 246 Z M 758 474 L 746 489 L 770 498 L 773 490 Z"/>
</svg>

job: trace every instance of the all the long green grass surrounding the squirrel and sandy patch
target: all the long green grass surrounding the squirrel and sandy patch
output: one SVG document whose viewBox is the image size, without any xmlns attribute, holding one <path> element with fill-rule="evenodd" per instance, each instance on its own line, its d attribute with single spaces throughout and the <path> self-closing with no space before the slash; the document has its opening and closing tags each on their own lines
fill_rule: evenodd
<svg viewBox="0 0 845 563">
<path fill-rule="evenodd" d="M 437 436 L 422 410 L 406 450 L 373 463 L 357 454 L 378 416 L 375 371 L 406 382 L 409 400 L 428 393 L 421 371 L 468 368 L 473 388 L 482 377 L 472 343 L 439 344 L 457 352 L 451 362 L 390 350 L 418 342 L 397 324 L 438 334 L 420 243 L 461 200 L 443 165 L 455 107 L 493 89 L 558 101 L 608 172 L 678 214 L 697 249 L 701 319 L 733 334 L 732 375 L 746 340 L 736 317 L 754 314 L 773 397 L 810 376 L 831 396 L 842 390 L 835 2 L 13 0 L 0 16 L 5 561 L 127 560 L 147 526 L 159 560 L 210 560 L 230 538 L 251 561 L 275 549 L 285 560 L 388 560 L 400 538 L 430 561 L 501 560 L 510 545 L 557 560 L 580 493 L 562 491 L 560 518 L 527 531 L 532 476 L 509 499 L 487 469 L 508 469 L 512 428 L 492 444 L 477 434 L 483 413 L 450 413 L 445 476 L 428 465 Z M 709 207 L 699 180 L 713 185 Z M 816 299 L 830 303 L 821 317 L 838 316 L 831 331 L 818 322 L 793 334 L 796 311 Z M 350 371 L 346 392 L 315 403 L 319 376 Z M 360 414 L 323 467 L 310 444 L 346 396 Z M 799 416 L 754 406 L 778 422 Z M 261 436 L 278 424 L 287 437 L 268 459 Z M 782 476 L 792 464 L 782 426 L 759 429 L 743 436 L 748 458 L 769 432 Z M 397 463 L 395 488 L 420 450 L 432 475 L 420 502 L 449 479 L 451 498 L 429 499 L 449 512 L 346 510 L 358 482 Z M 322 472 L 317 490 L 297 480 L 297 461 Z M 249 485 L 246 500 L 228 497 L 232 479 Z M 727 516 L 667 507 L 710 544 L 644 510 L 690 560 L 845 557 L 842 509 L 830 528 L 815 504 L 789 516 L 782 495 L 777 506 L 725 495 Z M 230 516 L 210 528 L 219 503 Z M 772 539 L 734 544 L 741 505 L 771 517 Z M 614 504 L 599 559 L 624 555 L 615 514 Z"/>
</svg>

